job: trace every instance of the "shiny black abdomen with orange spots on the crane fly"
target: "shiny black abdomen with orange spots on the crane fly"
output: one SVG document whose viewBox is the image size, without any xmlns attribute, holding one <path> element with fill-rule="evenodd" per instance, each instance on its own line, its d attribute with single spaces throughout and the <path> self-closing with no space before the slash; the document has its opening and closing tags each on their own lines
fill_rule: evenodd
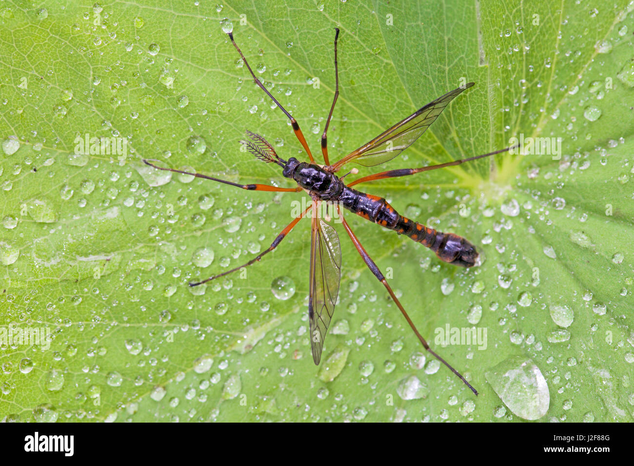
<svg viewBox="0 0 634 466">
<path fill-rule="evenodd" d="M 406 235 L 436 253 L 444 262 L 471 267 L 477 259 L 474 245 L 453 233 L 443 233 L 400 215 L 382 197 L 362 193 L 344 186 L 339 204 L 355 214 L 380 226 Z"/>
</svg>

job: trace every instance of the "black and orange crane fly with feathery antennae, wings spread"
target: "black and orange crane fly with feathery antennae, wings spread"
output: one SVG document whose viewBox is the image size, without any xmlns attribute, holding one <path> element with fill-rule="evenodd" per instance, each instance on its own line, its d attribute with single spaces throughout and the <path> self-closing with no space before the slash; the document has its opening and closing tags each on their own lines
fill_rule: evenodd
<svg viewBox="0 0 634 466">
<path fill-rule="evenodd" d="M 433 228 L 410 220 L 401 216 L 389 205 L 384 198 L 373 196 L 355 190 L 352 186 L 360 183 L 366 183 L 368 181 L 375 181 L 377 179 L 396 178 L 400 176 L 410 176 L 416 173 L 435 170 L 443 167 L 450 167 L 452 165 L 459 165 L 470 160 L 482 159 L 483 157 L 489 157 L 497 153 L 505 152 L 509 148 L 498 150 L 484 155 L 477 155 L 475 157 L 469 157 L 468 159 L 453 160 L 453 162 L 446 162 L 439 165 L 428 165 L 426 167 L 413 168 L 413 169 L 398 169 L 390 170 L 372 175 L 358 178 L 349 184 L 344 183 L 343 178 L 349 174 L 356 174 L 358 170 L 352 169 L 344 176 L 337 176 L 337 172 L 340 171 L 345 165 L 350 162 L 354 162 L 365 167 L 372 167 L 374 165 L 380 165 L 388 160 L 394 159 L 399 153 L 408 148 L 421 134 L 425 133 L 425 130 L 436 120 L 438 115 L 443 112 L 444 108 L 450 103 L 453 98 L 462 93 L 465 89 L 473 86 L 473 82 L 469 82 L 463 87 L 458 87 L 449 93 L 444 94 L 436 100 L 428 103 L 425 107 L 418 109 L 412 113 L 409 117 L 401 120 L 390 129 L 387 129 L 383 133 L 379 134 L 376 138 L 372 139 L 368 143 L 359 147 L 357 150 L 349 153 L 338 162 L 330 164 L 328 159 L 328 127 L 330 126 L 330 120 L 332 119 L 332 113 L 335 109 L 335 103 L 339 97 L 339 66 L 337 63 L 337 39 L 339 38 L 339 29 L 335 28 L 335 95 L 328 113 L 328 119 L 321 135 L 321 153 L 325 164 L 316 164 L 313 154 L 309 149 L 304 134 L 297 123 L 297 120 L 282 107 L 280 102 L 264 87 L 262 82 L 256 77 L 253 70 L 249 66 L 247 58 L 243 55 L 242 51 L 233 39 L 233 32 L 228 33 L 231 43 L 240 54 L 242 61 L 249 70 L 251 77 L 257 86 L 266 93 L 273 102 L 280 108 L 280 110 L 288 117 L 292 126 L 293 132 L 302 147 L 306 151 L 310 162 L 300 162 L 295 157 L 290 157 L 288 160 L 283 160 L 275 152 L 275 149 L 271 144 L 262 138 L 259 134 L 247 131 L 246 140 L 240 141 L 247 148 L 248 152 L 252 153 L 257 159 L 267 163 L 274 163 L 280 165 L 282 168 L 282 175 L 285 178 L 293 179 L 297 183 L 296 188 L 279 188 L 278 186 L 271 186 L 268 184 L 238 184 L 224 179 L 213 178 L 200 173 L 185 172 L 177 169 L 160 167 L 152 162 L 156 160 L 144 159 L 145 164 L 154 167 L 155 169 L 171 171 L 181 174 L 188 174 L 197 178 L 210 179 L 219 183 L 229 184 L 236 188 L 242 188 L 243 190 L 251 191 L 274 191 L 274 192 L 289 192 L 289 191 L 306 191 L 311 197 L 312 203 L 307 207 L 304 212 L 284 228 L 278 236 L 276 236 L 273 243 L 268 249 L 261 252 L 249 262 L 235 267 L 226 272 L 218 275 L 211 276 L 202 282 L 190 283 L 191 287 L 201 285 L 202 283 L 210 282 L 224 275 L 228 275 L 232 272 L 238 271 L 243 267 L 248 267 L 257 261 L 260 261 L 262 257 L 269 252 L 273 251 L 280 245 L 282 240 L 288 235 L 288 233 L 295 228 L 295 225 L 299 221 L 307 217 L 309 212 L 311 213 L 311 264 L 310 264 L 310 283 L 309 283 L 309 302 L 308 302 L 308 315 L 310 323 L 310 335 L 311 335 L 311 349 L 313 353 L 313 360 L 316 365 L 320 363 L 321 350 L 323 348 L 323 341 L 328 330 L 328 325 L 332 320 L 333 313 L 335 311 L 335 303 L 337 302 L 337 295 L 339 294 L 339 282 L 341 278 L 341 247 L 339 242 L 339 236 L 337 231 L 324 221 L 319 215 L 320 204 L 327 203 L 333 205 L 337 209 L 340 221 L 342 222 L 347 235 L 353 242 L 354 247 L 361 255 L 361 258 L 368 266 L 370 271 L 375 277 L 383 284 L 387 289 L 387 292 L 391 296 L 392 300 L 398 306 L 404 318 L 414 331 L 418 340 L 422 343 L 424 348 L 429 351 L 436 359 L 447 366 L 451 372 L 455 373 L 460 380 L 462 380 L 467 387 L 469 387 L 476 395 L 477 391 L 467 380 L 462 376 L 460 372 L 455 370 L 447 361 L 441 356 L 436 354 L 430 349 L 427 341 L 420 335 L 410 316 L 408 316 L 403 305 L 398 300 L 392 288 L 387 283 L 385 276 L 378 268 L 377 264 L 368 255 L 359 238 L 354 235 L 349 224 L 346 222 L 345 217 L 341 212 L 341 207 L 357 214 L 367 220 L 377 223 L 384 228 L 396 231 L 399 235 L 406 235 L 415 242 L 421 243 L 425 247 L 428 247 L 436 256 L 442 261 L 450 262 L 457 266 L 471 267 L 474 266 L 477 259 L 477 252 L 474 245 L 465 240 L 461 236 L 454 233 L 443 233 L 436 231 Z"/>
</svg>

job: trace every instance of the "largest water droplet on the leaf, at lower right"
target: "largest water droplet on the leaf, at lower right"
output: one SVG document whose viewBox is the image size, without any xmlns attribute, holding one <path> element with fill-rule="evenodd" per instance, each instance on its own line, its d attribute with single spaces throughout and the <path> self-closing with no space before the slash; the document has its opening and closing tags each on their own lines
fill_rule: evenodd
<svg viewBox="0 0 634 466">
<path fill-rule="evenodd" d="M 531 359 L 525 356 L 505 359 L 486 372 L 485 377 L 515 415 L 537 420 L 547 413 L 550 405 L 548 384 Z"/>
</svg>

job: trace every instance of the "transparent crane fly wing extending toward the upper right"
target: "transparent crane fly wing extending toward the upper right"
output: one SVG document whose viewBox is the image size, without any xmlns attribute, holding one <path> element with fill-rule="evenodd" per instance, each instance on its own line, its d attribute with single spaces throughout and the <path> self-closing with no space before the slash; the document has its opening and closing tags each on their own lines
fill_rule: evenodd
<svg viewBox="0 0 634 466">
<path fill-rule="evenodd" d="M 335 169 L 353 161 L 365 167 L 373 167 L 394 159 L 425 133 L 425 130 L 437 119 L 455 96 L 473 85 L 473 82 L 469 82 L 465 87 L 453 89 L 453 91 L 428 103 L 403 121 L 379 134 L 372 141 L 346 155 L 334 165 Z"/>
</svg>

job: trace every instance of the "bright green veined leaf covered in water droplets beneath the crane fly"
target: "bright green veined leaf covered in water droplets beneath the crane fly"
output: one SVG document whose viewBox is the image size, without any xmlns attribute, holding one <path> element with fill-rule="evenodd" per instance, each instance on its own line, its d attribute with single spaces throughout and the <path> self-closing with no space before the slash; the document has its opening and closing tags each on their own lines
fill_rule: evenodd
<svg viewBox="0 0 634 466">
<path fill-rule="evenodd" d="M 253 5 L 0 10 L 0 418 L 631 421 L 631 4 Z M 264 251 L 308 202 L 141 163 L 292 186 L 240 151 L 249 129 L 281 157 L 306 159 L 224 34 L 231 25 L 318 161 L 334 27 L 331 160 L 470 81 L 415 145 L 360 175 L 512 138 L 554 141 L 547 153 L 358 186 L 465 236 L 481 266 L 441 263 L 347 214 L 418 330 L 477 398 L 425 353 L 340 226 L 329 368 L 314 366 L 309 349 L 307 221 L 245 271 L 188 287 Z M 86 136 L 125 138 L 124 153 L 80 153 Z M 40 328 L 50 341 L 8 340 Z M 467 344 L 472 328 L 486 339 Z M 463 335 L 443 345 L 446 330 Z"/>
</svg>

